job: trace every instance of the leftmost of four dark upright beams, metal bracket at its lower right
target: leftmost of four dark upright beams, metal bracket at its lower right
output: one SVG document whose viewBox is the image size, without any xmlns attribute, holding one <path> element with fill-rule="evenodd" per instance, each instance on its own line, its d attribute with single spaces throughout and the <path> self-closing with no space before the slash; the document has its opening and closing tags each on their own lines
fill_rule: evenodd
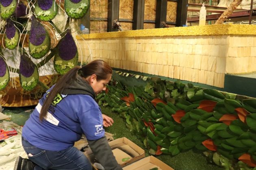
<svg viewBox="0 0 256 170">
<path fill-rule="evenodd" d="M 113 28 L 114 21 L 119 21 L 119 0 L 108 0 L 108 26 L 107 32 L 118 31 Z"/>
</svg>

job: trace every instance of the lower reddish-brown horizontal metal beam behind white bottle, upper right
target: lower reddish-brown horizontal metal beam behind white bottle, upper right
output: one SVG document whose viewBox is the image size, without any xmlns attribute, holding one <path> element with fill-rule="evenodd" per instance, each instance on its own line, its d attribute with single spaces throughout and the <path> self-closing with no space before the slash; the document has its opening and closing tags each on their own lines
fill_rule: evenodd
<svg viewBox="0 0 256 170">
<path fill-rule="evenodd" d="M 251 12 L 250 10 L 234 12 L 228 18 L 249 17 L 250 12 Z M 256 11 L 252 10 L 252 16 L 256 16 L 255 12 Z M 206 21 L 217 20 L 219 19 L 220 16 L 221 14 L 206 15 Z M 198 22 L 198 21 L 199 21 L 199 16 L 188 17 L 188 22 Z"/>
</svg>

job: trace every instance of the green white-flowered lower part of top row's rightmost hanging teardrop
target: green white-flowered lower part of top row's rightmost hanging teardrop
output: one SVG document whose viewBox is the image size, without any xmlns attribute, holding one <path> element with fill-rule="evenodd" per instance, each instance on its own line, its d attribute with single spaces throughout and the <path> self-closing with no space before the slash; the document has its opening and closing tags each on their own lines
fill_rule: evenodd
<svg viewBox="0 0 256 170">
<path fill-rule="evenodd" d="M 89 0 L 81 0 L 73 3 L 71 0 L 65 0 L 65 11 L 67 15 L 74 19 L 79 19 L 85 15 L 89 8 Z"/>
</svg>

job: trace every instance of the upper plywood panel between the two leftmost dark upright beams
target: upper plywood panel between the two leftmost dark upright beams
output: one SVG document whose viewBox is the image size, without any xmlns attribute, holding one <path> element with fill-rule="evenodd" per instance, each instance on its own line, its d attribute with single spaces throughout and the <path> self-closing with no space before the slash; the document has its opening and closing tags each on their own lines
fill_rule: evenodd
<svg viewBox="0 0 256 170">
<path fill-rule="evenodd" d="M 120 0 L 119 2 L 119 18 L 133 18 L 133 0 Z"/>
</svg>

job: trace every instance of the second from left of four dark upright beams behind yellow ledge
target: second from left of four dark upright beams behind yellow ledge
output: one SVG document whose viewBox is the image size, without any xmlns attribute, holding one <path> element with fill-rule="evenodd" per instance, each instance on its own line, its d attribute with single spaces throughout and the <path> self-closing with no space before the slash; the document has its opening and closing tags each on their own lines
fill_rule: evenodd
<svg viewBox="0 0 256 170">
<path fill-rule="evenodd" d="M 144 21 L 145 0 L 134 0 L 132 30 L 142 30 Z"/>
</svg>

